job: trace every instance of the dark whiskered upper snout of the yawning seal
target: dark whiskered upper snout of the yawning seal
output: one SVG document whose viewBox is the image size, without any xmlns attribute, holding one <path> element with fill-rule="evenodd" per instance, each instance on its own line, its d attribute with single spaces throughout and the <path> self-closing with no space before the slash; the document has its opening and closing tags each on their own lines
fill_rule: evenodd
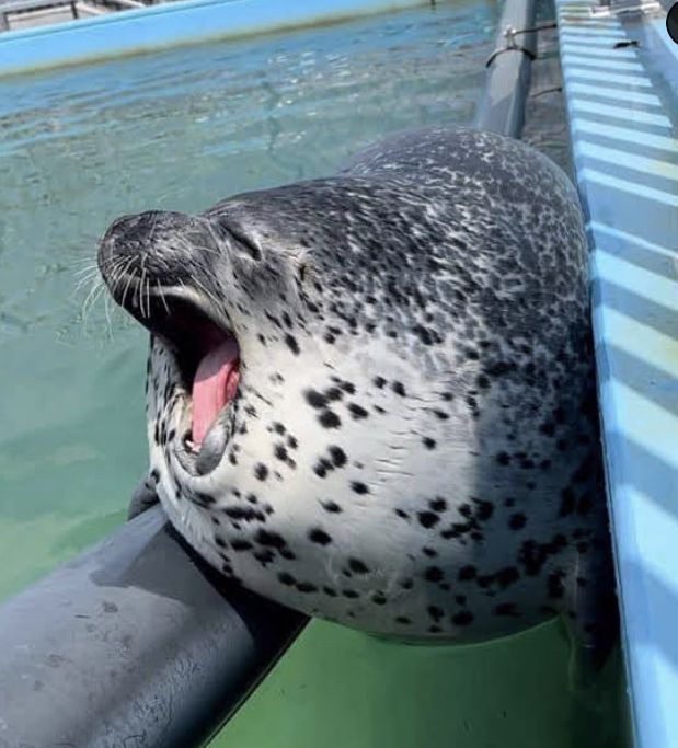
<svg viewBox="0 0 678 748">
<path fill-rule="evenodd" d="M 148 210 L 113 221 L 99 245 L 99 269 L 115 298 L 120 277 L 145 273 L 161 286 L 187 281 L 196 248 L 215 244 L 208 221 L 197 216 Z M 117 299 L 116 299 L 117 300 Z"/>
</svg>

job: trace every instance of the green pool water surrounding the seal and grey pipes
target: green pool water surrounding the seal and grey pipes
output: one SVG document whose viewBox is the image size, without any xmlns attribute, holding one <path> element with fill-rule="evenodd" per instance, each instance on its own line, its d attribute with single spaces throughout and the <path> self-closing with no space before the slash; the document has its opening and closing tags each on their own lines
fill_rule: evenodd
<svg viewBox="0 0 678 748">
<path fill-rule="evenodd" d="M 85 304 L 108 223 L 470 122 L 495 23 L 461 1 L 0 82 L 0 599 L 122 522 L 143 473 L 146 335 Z M 578 748 L 566 655 L 554 625 L 426 648 L 313 622 L 212 748 Z M 617 665 L 588 700 L 606 748 Z"/>
</svg>

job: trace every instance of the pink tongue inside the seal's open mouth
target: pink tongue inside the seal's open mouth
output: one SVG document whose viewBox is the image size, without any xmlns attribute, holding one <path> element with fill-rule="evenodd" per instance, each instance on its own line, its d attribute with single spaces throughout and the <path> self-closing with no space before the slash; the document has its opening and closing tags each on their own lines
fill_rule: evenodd
<svg viewBox="0 0 678 748">
<path fill-rule="evenodd" d="M 219 411 L 235 396 L 238 343 L 229 338 L 212 348 L 198 364 L 193 380 L 193 444 L 199 447 Z"/>
</svg>

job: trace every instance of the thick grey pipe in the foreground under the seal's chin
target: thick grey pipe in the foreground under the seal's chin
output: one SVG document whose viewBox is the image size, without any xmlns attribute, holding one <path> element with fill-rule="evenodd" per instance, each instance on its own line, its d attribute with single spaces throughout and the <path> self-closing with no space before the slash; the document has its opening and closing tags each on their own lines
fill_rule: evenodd
<svg viewBox="0 0 678 748">
<path fill-rule="evenodd" d="M 304 622 L 150 509 L 0 608 L 0 747 L 199 746 Z"/>
</svg>

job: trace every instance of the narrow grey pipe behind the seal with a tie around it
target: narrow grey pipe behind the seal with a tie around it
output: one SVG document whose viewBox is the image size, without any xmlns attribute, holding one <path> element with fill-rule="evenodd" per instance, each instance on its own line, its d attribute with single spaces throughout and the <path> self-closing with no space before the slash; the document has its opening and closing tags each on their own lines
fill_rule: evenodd
<svg viewBox="0 0 678 748">
<path fill-rule="evenodd" d="M 530 90 L 530 66 L 536 57 L 535 0 L 506 0 L 495 50 L 475 126 L 519 138 L 525 124 L 525 100 Z"/>
</svg>

